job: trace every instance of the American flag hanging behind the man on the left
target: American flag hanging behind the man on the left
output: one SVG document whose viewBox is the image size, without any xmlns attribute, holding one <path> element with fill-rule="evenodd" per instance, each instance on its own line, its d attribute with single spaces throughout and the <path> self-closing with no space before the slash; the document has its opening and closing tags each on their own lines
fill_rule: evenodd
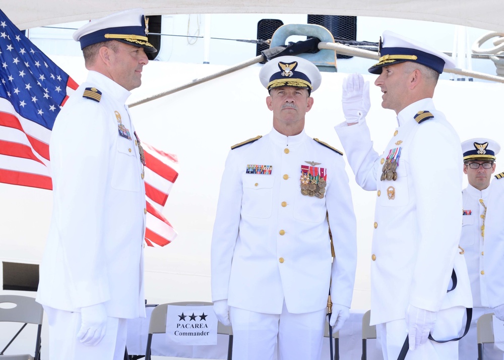
<svg viewBox="0 0 504 360">
<path fill-rule="evenodd" d="M 0 10 L 0 183 L 52 190 L 49 139 L 60 107 L 77 83 Z M 176 155 L 145 151 L 148 246 L 177 235 L 161 211 L 178 176 Z"/>
</svg>

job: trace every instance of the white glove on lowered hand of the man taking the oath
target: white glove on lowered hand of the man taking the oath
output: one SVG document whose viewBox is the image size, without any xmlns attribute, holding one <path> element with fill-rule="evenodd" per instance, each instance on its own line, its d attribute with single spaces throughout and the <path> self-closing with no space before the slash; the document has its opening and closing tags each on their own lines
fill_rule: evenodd
<svg viewBox="0 0 504 360">
<path fill-rule="evenodd" d="M 408 306 L 406 312 L 406 327 L 409 335 L 410 350 L 414 350 L 427 342 L 430 330 L 436 323 L 436 313 Z"/>
</svg>

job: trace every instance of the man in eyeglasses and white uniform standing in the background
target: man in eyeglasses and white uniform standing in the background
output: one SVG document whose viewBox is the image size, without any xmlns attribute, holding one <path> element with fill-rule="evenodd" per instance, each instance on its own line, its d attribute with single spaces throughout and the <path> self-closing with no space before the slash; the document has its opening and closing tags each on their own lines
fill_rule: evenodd
<svg viewBox="0 0 504 360">
<path fill-rule="evenodd" d="M 488 276 L 484 264 L 487 255 L 484 252 L 485 220 L 490 193 L 490 179 L 495 171 L 495 155 L 500 150 L 498 143 L 491 139 L 477 138 L 462 143 L 464 173 L 469 185 L 462 191 L 462 234 L 461 252 L 466 259 L 471 291 L 473 296 L 473 317 L 469 333 L 459 341 L 459 353 L 466 358 L 477 358 L 476 322 L 478 318 L 493 310 L 488 306 Z M 484 347 L 484 358 L 502 360 L 502 351 L 493 346 Z"/>
</svg>

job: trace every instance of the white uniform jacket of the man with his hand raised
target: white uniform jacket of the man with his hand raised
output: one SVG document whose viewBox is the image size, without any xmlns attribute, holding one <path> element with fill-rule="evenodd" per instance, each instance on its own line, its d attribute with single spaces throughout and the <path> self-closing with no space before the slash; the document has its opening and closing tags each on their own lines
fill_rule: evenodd
<svg viewBox="0 0 504 360">
<path fill-rule="evenodd" d="M 421 124 L 418 111 L 434 118 Z M 357 184 L 376 191 L 371 256 L 371 325 L 405 318 L 408 304 L 429 311 L 472 306 L 464 257 L 458 245 L 462 224 L 460 140 L 432 99 L 398 114 L 398 128 L 380 155 L 369 129 L 338 125 Z M 387 157 L 399 155 L 397 179 L 381 181 Z M 447 294 L 452 269 L 457 287 Z"/>
</svg>

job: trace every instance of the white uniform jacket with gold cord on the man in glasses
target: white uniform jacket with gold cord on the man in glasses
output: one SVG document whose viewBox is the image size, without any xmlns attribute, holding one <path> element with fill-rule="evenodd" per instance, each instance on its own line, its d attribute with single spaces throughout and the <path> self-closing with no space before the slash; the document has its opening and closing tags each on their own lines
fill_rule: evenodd
<svg viewBox="0 0 504 360">
<path fill-rule="evenodd" d="M 460 247 L 464 250 L 475 308 L 488 306 L 481 227 L 485 223 L 485 206 L 488 205 L 489 192 L 490 187 L 480 191 L 471 185 L 462 191 L 464 209 L 462 211 Z M 502 302 L 504 303 L 504 299 Z"/>
</svg>

